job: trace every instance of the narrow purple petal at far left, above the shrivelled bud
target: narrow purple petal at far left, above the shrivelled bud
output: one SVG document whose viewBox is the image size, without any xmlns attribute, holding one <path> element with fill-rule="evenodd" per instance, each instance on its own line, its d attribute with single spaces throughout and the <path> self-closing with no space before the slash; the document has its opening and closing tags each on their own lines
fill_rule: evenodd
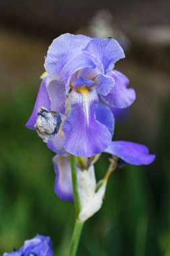
<svg viewBox="0 0 170 256">
<path fill-rule="evenodd" d="M 34 125 L 36 123 L 36 119 L 38 118 L 38 108 L 40 108 L 40 106 L 43 106 L 47 109 L 50 109 L 50 97 L 46 88 L 46 78 L 44 78 L 42 80 L 42 83 L 40 85 L 40 89 L 38 91 L 38 96 L 36 98 L 36 104 L 34 106 L 34 110 L 32 111 L 32 115 L 30 117 L 30 119 L 28 120 L 28 122 L 26 123 L 26 127 L 28 129 L 33 129 Z"/>
</svg>

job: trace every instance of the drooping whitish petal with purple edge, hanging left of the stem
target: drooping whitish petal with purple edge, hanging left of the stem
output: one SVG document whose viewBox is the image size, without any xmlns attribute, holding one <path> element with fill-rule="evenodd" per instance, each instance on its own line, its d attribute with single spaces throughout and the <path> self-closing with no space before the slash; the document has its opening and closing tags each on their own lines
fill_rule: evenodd
<svg viewBox="0 0 170 256">
<path fill-rule="evenodd" d="M 71 180 L 71 162 L 69 156 L 54 156 L 52 159 L 56 172 L 54 191 L 62 200 L 73 200 L 73 186 Z"/>
</svg>

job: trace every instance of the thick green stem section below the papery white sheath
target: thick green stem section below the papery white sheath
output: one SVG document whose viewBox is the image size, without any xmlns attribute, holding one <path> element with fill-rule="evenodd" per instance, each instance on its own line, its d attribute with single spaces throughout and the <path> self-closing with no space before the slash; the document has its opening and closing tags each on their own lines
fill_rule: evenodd
<svg viewBox="0 0 170 256">
<path fill-rule="evenodd" d="M 74 228 L 73 236 L 71 239 L 71 247 L 70 247 L 70 251 L 69 251 L 69 256 L 75 256 L 77 253 L 77 247 L 79 245 L 79 240 L 80 240 L 83 224 L 84 224 L 84 222 L 81 222 L 80 220 L 75 220 L 75 228 Z"/>
</svg>

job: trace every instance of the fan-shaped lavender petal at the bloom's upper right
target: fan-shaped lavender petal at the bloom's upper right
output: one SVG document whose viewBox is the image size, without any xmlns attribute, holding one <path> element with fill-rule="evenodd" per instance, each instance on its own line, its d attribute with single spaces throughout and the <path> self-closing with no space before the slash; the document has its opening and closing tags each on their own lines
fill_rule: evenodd
<svg viewBox="0 0 170 256">
<path fill-rule="evenodd" d="M 83 53 L 95 63 L 101 73 L 107 74 L 114 68 L 114 63 L 124 58 L 124 51 L 120 44 L 112 38 L 93 38 L 89 41 Z"/>
</svg>

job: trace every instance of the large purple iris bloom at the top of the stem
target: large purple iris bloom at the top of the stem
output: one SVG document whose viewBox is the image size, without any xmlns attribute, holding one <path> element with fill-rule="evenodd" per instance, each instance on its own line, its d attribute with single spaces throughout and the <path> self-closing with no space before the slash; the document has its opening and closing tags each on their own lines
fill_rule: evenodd
<svg viewBox="0 0 170 256">
<path fill-rule="evenodd" d="M 26 127 L 36 129 L 59 155 L 103 152 L 114 133 L 112 108 L 126 108 L 136 98 L 127 77 L 114 70 L 122 58 L 124 51 L 112 38 L 62 34 L 54 39 Z"/>
</svg>

